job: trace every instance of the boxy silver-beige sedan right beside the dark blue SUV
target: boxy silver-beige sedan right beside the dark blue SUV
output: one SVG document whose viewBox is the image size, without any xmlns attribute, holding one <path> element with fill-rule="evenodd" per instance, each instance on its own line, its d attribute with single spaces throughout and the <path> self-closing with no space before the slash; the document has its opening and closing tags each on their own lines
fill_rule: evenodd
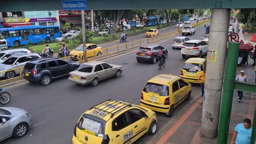
<svg viewBox="0 0 256 144">
<path fill-rule="evenodd" d="M 98 81 L 107 79 L 108 77 L 120 77 L 123 67 L 115 64 L 107 64 L 105 62 L 92 61 L 83 63 L 80 67 L 69 73 L 69 80 L 80 85 L 90 84 L 97 86 Z"/>
</svg>

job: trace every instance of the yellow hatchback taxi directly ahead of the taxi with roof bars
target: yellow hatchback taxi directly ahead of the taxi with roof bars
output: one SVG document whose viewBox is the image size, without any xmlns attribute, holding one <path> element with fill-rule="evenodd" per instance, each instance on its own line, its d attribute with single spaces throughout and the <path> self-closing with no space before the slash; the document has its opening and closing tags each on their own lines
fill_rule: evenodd
<svg viewBox="0 0 256 144">
<path fill-rule="evenodd" d="M 157 75 L 148 80 L 141 93 L 140 105 L 164 112 L 168 117 L 182 101 L 190 100 L 191 84 L 174 75 Z"/>
</svg>

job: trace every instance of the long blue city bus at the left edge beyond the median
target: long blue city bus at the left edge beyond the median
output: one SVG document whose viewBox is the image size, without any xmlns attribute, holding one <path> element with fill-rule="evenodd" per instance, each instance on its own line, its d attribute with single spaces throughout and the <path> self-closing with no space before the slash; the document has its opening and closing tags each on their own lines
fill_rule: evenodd
<svg viewBox="0 0 256 144">
<path fill-rule="evenodd" d="M 28 41 L 33 44 L 40 40 L 49 43 L 60 37 L 59 26 L 18 26 L 15 28 L 0 28 L 0 34 L 7 41 L 7 46 L 26 45 Z"/>
</svg>

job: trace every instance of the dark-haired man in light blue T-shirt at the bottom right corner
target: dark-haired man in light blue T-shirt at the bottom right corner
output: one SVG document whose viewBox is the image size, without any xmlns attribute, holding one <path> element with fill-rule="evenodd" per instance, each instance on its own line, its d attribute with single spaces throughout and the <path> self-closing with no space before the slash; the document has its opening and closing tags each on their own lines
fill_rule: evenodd
<svg viewBox="0 0 256 144">
<path fill-rule="evenodd" d="M 230 144 L 250 144 L 252 137 L 252 122 L 246 118 L 243 123 L 239 123 L 233 131 Z"/>
</svg>

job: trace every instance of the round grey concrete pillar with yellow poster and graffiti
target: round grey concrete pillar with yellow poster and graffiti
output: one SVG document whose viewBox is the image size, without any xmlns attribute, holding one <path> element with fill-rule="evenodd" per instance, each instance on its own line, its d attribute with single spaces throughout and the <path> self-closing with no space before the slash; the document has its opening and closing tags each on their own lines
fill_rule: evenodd
<svg viewBox="0 0 256 144">
<path fill-rule="evenodd" d="M 201 134 L 217 137 L 230 9 L 212 9 Z"/>
</svg>

